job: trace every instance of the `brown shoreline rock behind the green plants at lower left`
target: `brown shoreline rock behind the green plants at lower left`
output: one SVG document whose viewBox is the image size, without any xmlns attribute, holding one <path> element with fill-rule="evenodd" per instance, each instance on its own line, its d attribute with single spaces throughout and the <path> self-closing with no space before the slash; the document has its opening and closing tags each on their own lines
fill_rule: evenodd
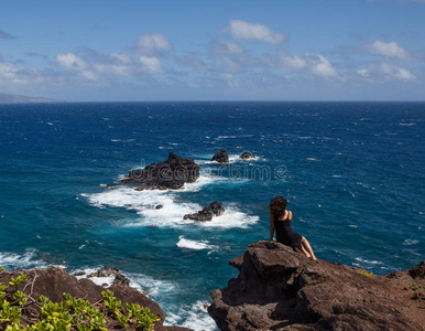
<svg viewBox="0 0 425 331">
<path fill-rule="evenodd" d="M 63 293 L 69 293 L 74 298 L 83 298 L 84 300 L 90 301 L 90 303 L 98 302 L 102 299 L 101 292 L 105 288 L 94 284 L 91 280 L 84 278 L 78 280 L 76 277 L 70 276 L 62 268 L 47 268 L 47 269 L 31 269 L 31 270 L 17 270 L 13 273 L 0 273 L 0 282 L 9 284 L 11 278 L 18 277 L 21 273 L 26 274 L 29 286 L 21 284 L 20 290 L 25 287 L 26 292 L 31 291 L 31 297 L 36 300 L 41 295 L 47 297 L 53 302 L 63 301 Z M 101 271 L 103 274 L 103 271 Z M 108 288 L 113 291 L 115 297 L 121 300 L 122 306 L 126 307 L 128 302 L 138 303 L 141 307 L 148 307 L 153 313 L 155 313 L 160 320 L 155 322 L 154 330 L 159 331 L 193 331 L 182 327 L 164 327 L 165 313 L 161 307 L 150 300 L 146 296 L 139 292 L 138 290 L 121 285 L 112 285 Z M 31 300 L 30 300 L 31 301 Z M 29 301 L 29 302 L 30 302 Z M 29 303 L 28 308 L 22 310 L 23 318 L 33 320 L 36 316 L 36 311 L 40 308 L 35 303 Z M 34 306 L 34 307 L 33 307 Z M 26 316 L 28 314 L 28 316 Z M 106 316 L 107 322 L 109 323 L 109 317 Z M 0 325 L 1 329 L 1 325 Z M 110 324 L 108 330 L 112 330 L 115 327 Z M 122 329 L 121 329 L 122 330 Z"/>
</svg>

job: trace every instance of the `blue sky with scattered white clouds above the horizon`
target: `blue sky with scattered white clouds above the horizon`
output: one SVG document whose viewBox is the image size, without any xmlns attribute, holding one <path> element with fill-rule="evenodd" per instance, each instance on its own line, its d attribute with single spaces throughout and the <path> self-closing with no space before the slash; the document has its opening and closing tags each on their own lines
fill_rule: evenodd
<svg viewBox="0 0 425 331">
<path fill-rule="evenodd" d="M 425 0 L 2 0 L 0 93 L 425 100 Z"/>
</svg>

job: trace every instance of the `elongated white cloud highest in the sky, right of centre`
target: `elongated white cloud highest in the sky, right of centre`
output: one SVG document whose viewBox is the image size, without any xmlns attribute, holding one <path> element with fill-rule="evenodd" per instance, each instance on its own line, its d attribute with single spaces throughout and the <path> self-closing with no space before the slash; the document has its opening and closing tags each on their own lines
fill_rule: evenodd
<svg viewBox="0 0 425 331">
<path fill-rule="evenodd" d="M 265 42 L 277 45 L 285 40 L 281 32 L 274 32 L 263 24 L 252 24 L 249 22 L 232 20 L 229 22 L 230 34 L 236 39 Z"/>
</svg>

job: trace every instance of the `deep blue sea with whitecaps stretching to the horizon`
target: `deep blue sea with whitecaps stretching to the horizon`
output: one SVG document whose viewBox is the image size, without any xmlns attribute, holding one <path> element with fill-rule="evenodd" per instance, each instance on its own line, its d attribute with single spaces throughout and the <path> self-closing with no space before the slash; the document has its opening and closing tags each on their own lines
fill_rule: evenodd
<svg viewBox="0 0 425 331">
<path fill-rule="evenodd" d="M 0 265 L 118 267 L 167 324 L 215 330 L 204 303 L 269 239 L 276 195 L 320 259 L 378 275 L 423 260 L 424 136 L 425 103 L 0 105 Z M 229 164 L 209 161 L 221 148 Z M 106 188 L 172 151 L 200 166 L 196 183 Z M 183 221 L 214 201 L 222 216 Z"/>
</svg>

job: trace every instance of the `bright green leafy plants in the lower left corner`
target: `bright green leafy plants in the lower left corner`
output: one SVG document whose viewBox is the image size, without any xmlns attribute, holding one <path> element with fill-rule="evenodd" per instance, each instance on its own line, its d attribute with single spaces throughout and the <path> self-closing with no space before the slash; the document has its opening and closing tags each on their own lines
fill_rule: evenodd
<svg viewBox="0 0 425 331">
<path fill-rule="evenodd" d="M 0 267 L 0 273 L 4 269 Z M 35 278 L 34 278 L 35 280 Z M 19 290 L 19 286 L 23 286 Z M 22 287 L 21 286 L 21 287 Z M 110 290 L 102 291 L 102 299 L 95 305 L 81 298 L 63 293 L 63 301 L 52 302 L 40 296 L 32 297 L 33 284 L 21 273 L 9 285 L 0 284 L 0 330 L 6 331 L 107 331 L 111 329 L 152 330 L 160 320 L 149 308 L 128 303 L 122 308 Z M 26 293 L 25 289 L 31 292 Z"/>
</svg>

